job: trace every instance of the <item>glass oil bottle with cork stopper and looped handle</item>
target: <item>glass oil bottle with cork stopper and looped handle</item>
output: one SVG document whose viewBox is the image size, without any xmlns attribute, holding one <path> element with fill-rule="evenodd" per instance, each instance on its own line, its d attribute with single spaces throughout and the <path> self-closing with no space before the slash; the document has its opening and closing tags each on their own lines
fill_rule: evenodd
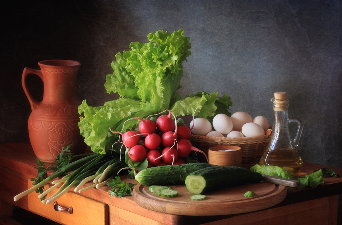
<svg viewBox="0 0 342 225">
<path fill-rule="evenodd" d="M 278 166 L 287 170 L 291 176 L 298 176 L 303 164 L 297 151 L 303 122 L 297 117 L 288 116 L 289 100 L 286 92 L 275 92 L 271 101 L 274 111 L 273 132 L 259 164 Z M 289 134 L 288 123 L 290 122 L 298 123 L 294 140 Z"/>
</svg>

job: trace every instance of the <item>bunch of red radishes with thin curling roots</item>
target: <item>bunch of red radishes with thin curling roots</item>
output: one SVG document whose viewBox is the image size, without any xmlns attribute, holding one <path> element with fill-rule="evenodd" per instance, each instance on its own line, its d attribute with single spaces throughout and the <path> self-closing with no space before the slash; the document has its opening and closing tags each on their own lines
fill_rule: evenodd
<svg viewBox="0 0 342 225">
<path fill-rule="evenodd" d="M 182 158 L 187 157 L 192 150 L 206 156 L 203 151 L 191 145 L 191 129 L 186 125 L 178 126 L 171 111 L 165 111 L 169 114 L 159 116 L 156 122 L 148 118 L 131 118 L 140 120 L 139 132 L 130 130 L 120 133 L 130 159 L 141 162 L 147 158 L 151 167 L 185 164 Z"/>
</svg>

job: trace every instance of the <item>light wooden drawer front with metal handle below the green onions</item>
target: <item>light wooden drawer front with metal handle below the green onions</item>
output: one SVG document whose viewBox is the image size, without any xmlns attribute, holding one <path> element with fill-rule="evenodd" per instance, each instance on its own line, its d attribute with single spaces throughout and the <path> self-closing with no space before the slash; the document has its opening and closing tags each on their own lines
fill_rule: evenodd
<svg viewBox="0 0 342 225">
<path fill-rule="evenodd" d="M 31 181 L 28 182 L 29 187 L 32 186 L 31 183 Z M 46 190 L 48 185 L 44 185 L 44 187 Z M 56 190 L 57 189 L 52 191 L 51 194 L 53 194 Z M 51 194 L 48 194 L 48 197 L 51 196 Z M 48 205 L 43 204 L 38 198 L 38 193 L 36 192 L 30 193 L 28 195 L 28 210 L 65 225 L 108 224 L 108 205 L 103 202 L 76 194 L 73 192 L 73 188 L 56 201 L 58 202 L 58 205 L 63 208 L 69 208 L 71 206 L 73 208 L 73 213 L 70 214 L 67 211 L 55 211 L 53 203 Z"/>
</svg>

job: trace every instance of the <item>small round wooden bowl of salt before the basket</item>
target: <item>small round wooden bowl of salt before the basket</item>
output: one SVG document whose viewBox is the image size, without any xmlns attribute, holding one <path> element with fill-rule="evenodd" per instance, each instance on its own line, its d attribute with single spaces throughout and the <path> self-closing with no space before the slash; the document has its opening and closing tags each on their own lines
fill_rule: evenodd
<svg viewBox="0 0 342 225">
<path fill-rule="evenodd" d="M 234 151 L 218 151 L 232 149 Z M 217 166 L 241 167 L 242 151 L 241 147 L 233 145 L 218 145 L 210 147 L 208 150 L 209 164 Z"/>
</svg>

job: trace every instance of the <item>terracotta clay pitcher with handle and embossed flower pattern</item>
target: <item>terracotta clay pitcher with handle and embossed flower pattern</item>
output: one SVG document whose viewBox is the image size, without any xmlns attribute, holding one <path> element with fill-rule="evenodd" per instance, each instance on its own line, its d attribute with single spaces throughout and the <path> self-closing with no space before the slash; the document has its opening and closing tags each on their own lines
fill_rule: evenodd
<svg viewBox="0 0 342 225">
<path fill-rule="evenodd" d="M 71 60 L 45 60 L 40 70 L 24 68 L 22 85 L 32 112 L 28 118 L 28 134 L 35 155 L 42 162 L 54 162 L 62 148 L 72 144 L 74 154 L 86 150 L 80 135 L 76 98 L 76 76 L 81 64 Z M 36 74 L 43 81 L 43 99 L 32 98 L 26 83 L 28 74 Z"/>
</svg>

